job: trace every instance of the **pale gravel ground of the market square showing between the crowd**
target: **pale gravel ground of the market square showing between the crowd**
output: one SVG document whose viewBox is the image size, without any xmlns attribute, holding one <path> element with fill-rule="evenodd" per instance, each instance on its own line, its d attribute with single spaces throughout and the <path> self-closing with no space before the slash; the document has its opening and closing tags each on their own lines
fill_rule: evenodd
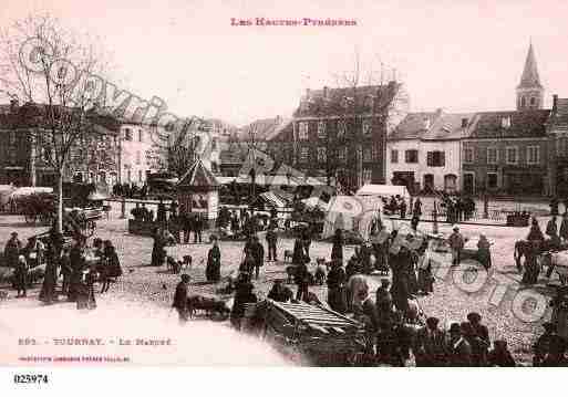
<svg viewBox="0 0 568 397">
<path fill-rule="evenodd" d="M 544 229 L 546 218 L 540 219 Z M 399 224 L 400 226 L 400 224 Z M 430 231 L 431 223 L 423 223 L 419 229 Z M 110 220 L 101 220 L 97 223 L 96 237 L 111 239 L 118 252 L 124 275 L 117 283 L 111 286 L 106 296 L 101 296 L 103 302 L 133 301 L 143 307 L 152 307 L 152 311 L 167 312 L 173 299 L 178 275 L 171 274 L 165 269 L 151 268 L 152 239 L 127 233 L 126 220 L 117 219 L 116 213 Z M 441 232 L 450 232 L 451 226 L 441 224 Z M 43 231 L 42 228 L 31 228 L 23 223 L 22 217 L 0 216 L 0 243 L 3 244 L 11 231 L 18 231 L 21 239 Z M 419 297 L 419 302 L 426 315 L 437 316 L 444 326 L 451 322 L 464 321 L 467 313 L 476 311 L 482 314 L 483 322 L 488 326 L 492 339 L 503 338 L 509 344 L 509 348 L 519 363 L 530 361 L 530 345 L 541 333 L 541 322 L 549 320 L 550 310 L 547 307 L 550 289 L 548 280 L 541 278 L 539 283 L 530 289 L 519 288 L 520 275 L 517 273 L 513 261 L 513 245 L 518 239 L 525 238 L 528 230 L 523 228 L 506 227 L 478 227 L 463 226 L 465 237 L 476 242 L 479 233 L 484 233 L 492 247 L 493 269 L 489 273 L 475 271 L 473 265 L 463 263 L 459 268 L 450 269 L 447 263 L 442 263 L 435 272 L 436 281 L 434 293 L 425 297 Z M 264 234 L 260 234 L 264 242 Z M 208 241 L 206 236 L 205 241 Z M 278 254 L 282 257 L 283 250 L 291 250 L 291 239 L 280 239 Z M 244 242 L 220 243 L 221 249 L 221 276 L 236 271 L 242 258 Z M 187 244 L 171 249 L 174 257 L 182 258 L 190 254 L 194 264 L 189 273 L 192 275 L 190 290 L 202 294 L 216 294 L 225 285 L 208 284 L 205 282 L 205 260 L 210 244 Z M 327 242 L 313 242 L 311 258 L 329 259 L 331 244 Z M 352 247 L 345 248 L 345 258 L 350 258 Z M 476 268 L 475 268 L 476 269 Z M 379 283 L 379 276 L 371 276 Z M 282 261 L 267 262 L 262 268 L 260 279 L 255 282 L 257 293 L 265 295 L 275 279 L 286 279 L 286 263 Z M 552 280 L 555 281 L 555 280 Z M 291 286 L 296 291 L 296 286 Z M 2 286 L 0 291 L 9 293 L 9 299 L 0 303 L 4 307 L 22 306 L 20 311 L 29 307 L 41 307 L 37 301 L 39 285 L 34 288 L 27 300 L 11 299 L 13 291 Z M 326 300 L 323 286 L 312 286 L 322 301 Z M 224 296 L 229 297 L 229 296 Z M 23 303 L 27 301 L 27 303 Z M 72 306 L 71 303 L 62 303 L 55 306 Z M 24 309 L 28 307 L 28 309 Z M 111 307 L 104 304 L 100 310 Z M 51 307 L 50 307 L 51 310 Z M 149 309 L 148 309 L 149 310 Z M 23 315 L 24 312 L 22 312 Z M 109 313 L 112 316 L 112 313 Z M 133 314 L 134 316 L 136 314 Z M 112 320 L 111 320 L 112 321 Z"/>
</svg>

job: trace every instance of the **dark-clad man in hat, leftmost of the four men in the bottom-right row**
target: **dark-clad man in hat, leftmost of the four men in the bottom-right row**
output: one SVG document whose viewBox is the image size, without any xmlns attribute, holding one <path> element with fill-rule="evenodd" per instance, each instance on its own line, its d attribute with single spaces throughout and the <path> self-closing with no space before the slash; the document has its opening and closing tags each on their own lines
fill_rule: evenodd
<svg viewBox="0 0 568 397">
<path fill-rule="evenodd" d="M 417 367 L 442 367 L 445 365 L 446 335 L 438 328 L 440 320 L 426 318 L 426 326 L 419 330 L 414 347 Z"/>
</svg>

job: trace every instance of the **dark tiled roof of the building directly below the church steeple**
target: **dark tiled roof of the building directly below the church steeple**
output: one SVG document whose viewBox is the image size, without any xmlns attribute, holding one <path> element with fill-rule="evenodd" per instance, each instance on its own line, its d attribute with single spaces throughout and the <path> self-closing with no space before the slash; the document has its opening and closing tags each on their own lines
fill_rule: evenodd
<svg viewBox="0 0 568 397">
<path fill-rule="evenodd" d="M 476 114 L 471 138 L 523 138 L 546 136 L 549 109 L 482 112 Z M 504 127 L 503 119 L 510 117 L 510 126 Z"/>
</svg>

